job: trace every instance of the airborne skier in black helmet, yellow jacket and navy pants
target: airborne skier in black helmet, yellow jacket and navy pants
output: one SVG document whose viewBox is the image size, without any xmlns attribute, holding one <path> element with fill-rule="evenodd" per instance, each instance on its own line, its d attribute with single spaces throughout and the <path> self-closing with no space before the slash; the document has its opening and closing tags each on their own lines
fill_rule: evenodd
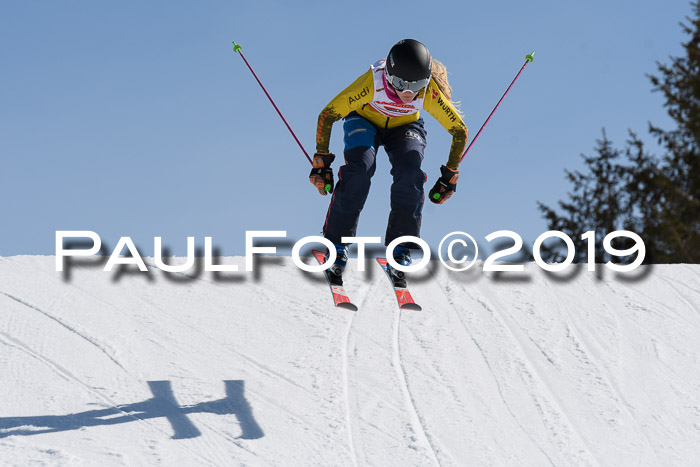
<svg viewBox="0 0 700 467">
<path fill-rule="evenodd" d="M 442 204 L 454 194 L 468 130 L 451 98 L 445 66 L 431 57 L 425 45 L 405 39 L 391 48 L 386 60 L 372 64 L 321 111 L 309 180 L 322 195 L 333 193 L 323 235 L 335 244 L 338 256 L 330 272 L 339 283 L 348 259 L 347 245 L 341 238 L 356 234 L 379 146 L 384 146 L 389 156 L 393 176 L 385 245 L 404 235 L 420 237 L 423 185 L 427 181 L 421 170 L 427 144 L 420 116 L 423 109 L 452 135 L 447 163 L 440 167 L 441 176 L 430 190 L 430 200 Z M 329 143 L 333 123 L 341 118 L 345 118 L 345 165 L 338 170 L 334 189 L 331 163 L 335 155 L 329 152 Z M 396 262 L 410 264 L 411 248 L 418 246 L 402 243 L 396 247 Z"/>
</svg>

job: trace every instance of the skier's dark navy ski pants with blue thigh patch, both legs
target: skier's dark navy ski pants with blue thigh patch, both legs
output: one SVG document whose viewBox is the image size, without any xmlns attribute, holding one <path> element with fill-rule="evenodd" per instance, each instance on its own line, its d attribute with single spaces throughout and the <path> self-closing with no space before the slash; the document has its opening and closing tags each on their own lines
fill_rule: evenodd
<svg viewBox="0 0 700 467">
<path fill-rule="evenodd" d="M 420 237 L 423 185 L 427 175 L 421 170 L 427 133 L 423 119 L 396 128 L 378 128 L 356 113 L 345 117 L 345 165 L 338 170 L 338 183 L 331 198 L 323 235 L 333 243 L 354 237 L 360 212 L 365 205 L 376 169 L 377 149 L 384 146 L 391 163 L 391 212 L 384 237 L 392 240 L 412 235 Z M 405 244 L 416 248 L 415 244 Z"/>
</svg>

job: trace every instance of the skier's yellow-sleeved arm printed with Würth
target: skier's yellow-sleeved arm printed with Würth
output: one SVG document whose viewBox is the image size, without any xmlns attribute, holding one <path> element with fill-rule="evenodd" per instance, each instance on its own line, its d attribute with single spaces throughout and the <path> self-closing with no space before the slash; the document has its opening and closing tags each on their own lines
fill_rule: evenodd
<svg viewBox="0 0 700 467">
<path fill-rule="evenodd" d="M 434 80 L 430 80 L 423 107 L 452 135 L 450 155 L 445 165 L 450 169 L 457 170 L 464 148 L 467 146 L 467 137 L 469 136 L 467 125 Z"/>
</svg>

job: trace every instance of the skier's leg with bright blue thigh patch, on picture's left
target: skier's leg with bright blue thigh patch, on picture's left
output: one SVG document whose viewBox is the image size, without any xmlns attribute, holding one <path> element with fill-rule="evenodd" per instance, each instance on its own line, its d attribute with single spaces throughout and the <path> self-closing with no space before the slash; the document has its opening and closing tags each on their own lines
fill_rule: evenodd
<svg viewBox="0 0 700 467">
<path fill-rule="evenodd" d="M 342 237 L 354 237 L 357 232 L 377 157 L 374 125 L 357 114 L 350 114 L 345 118 L 343 129 L 345 165 L 338 170 L 338 183 L 323 226 L 323 235 L 337 244 Z"/>
</svg>

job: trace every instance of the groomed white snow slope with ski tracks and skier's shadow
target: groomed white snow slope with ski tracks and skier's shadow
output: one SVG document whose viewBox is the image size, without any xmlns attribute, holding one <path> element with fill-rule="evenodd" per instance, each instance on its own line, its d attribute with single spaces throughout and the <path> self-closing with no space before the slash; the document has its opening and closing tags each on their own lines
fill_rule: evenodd
<svg viewBox="0 0 700 467">
<path fill-rule="evenodd" d="M 256 268 L 0 258 L 0 464 L 700 462 L 700 266 Z"/>
</svg>

